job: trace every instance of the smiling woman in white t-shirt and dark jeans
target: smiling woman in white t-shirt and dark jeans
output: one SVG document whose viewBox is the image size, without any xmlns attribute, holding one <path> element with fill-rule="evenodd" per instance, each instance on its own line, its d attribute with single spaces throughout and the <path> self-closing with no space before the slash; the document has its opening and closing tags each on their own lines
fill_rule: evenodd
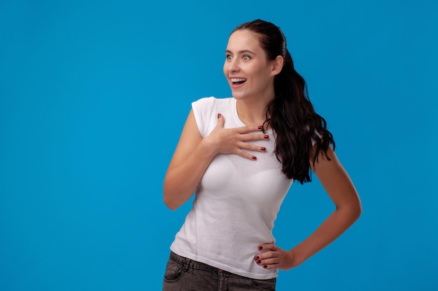
<svg viewBox="0 0 438 291">
<path fill-rule="evenodd" d="M 278 269 L 302 264 L 361 213 L 281 29 L 262 20 L 236 27 L 224 74 L 233 98 L 192 103 L 164 178 L 170 209 L 196 196 L 171 245 L 163 290 L 275 290 Z M 311 171 L 336 209 L 285 251 L 272 236 L 274 221 L 292 181 L 311 181 Z"/>
</svg>

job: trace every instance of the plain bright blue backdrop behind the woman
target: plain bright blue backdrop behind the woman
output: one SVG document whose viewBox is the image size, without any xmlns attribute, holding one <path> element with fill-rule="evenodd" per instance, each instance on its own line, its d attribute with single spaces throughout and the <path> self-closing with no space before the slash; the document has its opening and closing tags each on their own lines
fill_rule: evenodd
<svg viewBox="0 0 438 291">
<path fill-rule="evenodd" d="M 283 29 L 363 214 L 278 290 L 438 289 L 437 1 L 0 1 L 0 290 L 160 290 L 162 181 L 230 31 Z M 333 210 L 292 185 L 278 245 Z M 236 222 L 239 223 L 239 222 Z"/>
</svg>

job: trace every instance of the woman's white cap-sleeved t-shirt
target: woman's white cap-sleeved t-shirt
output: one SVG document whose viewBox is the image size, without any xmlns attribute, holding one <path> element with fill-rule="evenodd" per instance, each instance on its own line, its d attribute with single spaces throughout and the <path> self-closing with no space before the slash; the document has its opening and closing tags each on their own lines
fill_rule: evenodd
<svg viewBox="0 0 438 291">
<path fill-rule="evenodd" d="M 192 103 L 192 109 L 202 137 L 215 128 L 218 113 L 225 118 L 225 128 L 245 126 L 234 98 L 202 98 Z M 213 158 L 171 251 L 240 276 L 278 276 L 276 269 L 264 269 L 254 260 L 260 244 L 275 241 L 274 221 L 292 184 L 274 154 L 272 130 L 267 134 L 269 140 L 253 142 L 266 148 L 264 153 L 253 152 L 256 161 L 234 154 Z"/>
</svg>

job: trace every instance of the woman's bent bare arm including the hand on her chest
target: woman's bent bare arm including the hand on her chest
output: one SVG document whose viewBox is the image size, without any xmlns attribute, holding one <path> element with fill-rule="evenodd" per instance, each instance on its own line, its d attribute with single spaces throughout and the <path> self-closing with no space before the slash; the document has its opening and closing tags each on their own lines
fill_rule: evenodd
<svg viewBox="0 0 438 291">
<path fill-rule="evenodd" d="M 170 209 L 177 209 L 192 197 L 216 154 L 237 154 L 255 161 L 255 156 L 243 149 L 264 151 L 262 147 L 248 143 L 250 140 L 269 138 L 267 135 L 250 133 L 260 131 L 262 128 L 258 126 L 223 128 L 224 123 L 224 118 L 219 114 L 216 128 L 209 136 L 202 138 L 197 128 L 195 115 L 190 110 L 164 177 L 164 203 Z"/>
</svg>

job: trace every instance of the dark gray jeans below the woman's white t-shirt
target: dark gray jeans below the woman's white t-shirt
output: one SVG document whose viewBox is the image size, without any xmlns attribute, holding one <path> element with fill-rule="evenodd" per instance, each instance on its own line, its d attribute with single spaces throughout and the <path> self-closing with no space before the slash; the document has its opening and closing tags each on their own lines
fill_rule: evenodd
<svg viewBox="0 0 438 291">
<path fill-rule="evenodd" d="M 276 278 L 246 278 L 171 252 L 163 291 L 275 291 L 275 283 Z"/>
</svg>

